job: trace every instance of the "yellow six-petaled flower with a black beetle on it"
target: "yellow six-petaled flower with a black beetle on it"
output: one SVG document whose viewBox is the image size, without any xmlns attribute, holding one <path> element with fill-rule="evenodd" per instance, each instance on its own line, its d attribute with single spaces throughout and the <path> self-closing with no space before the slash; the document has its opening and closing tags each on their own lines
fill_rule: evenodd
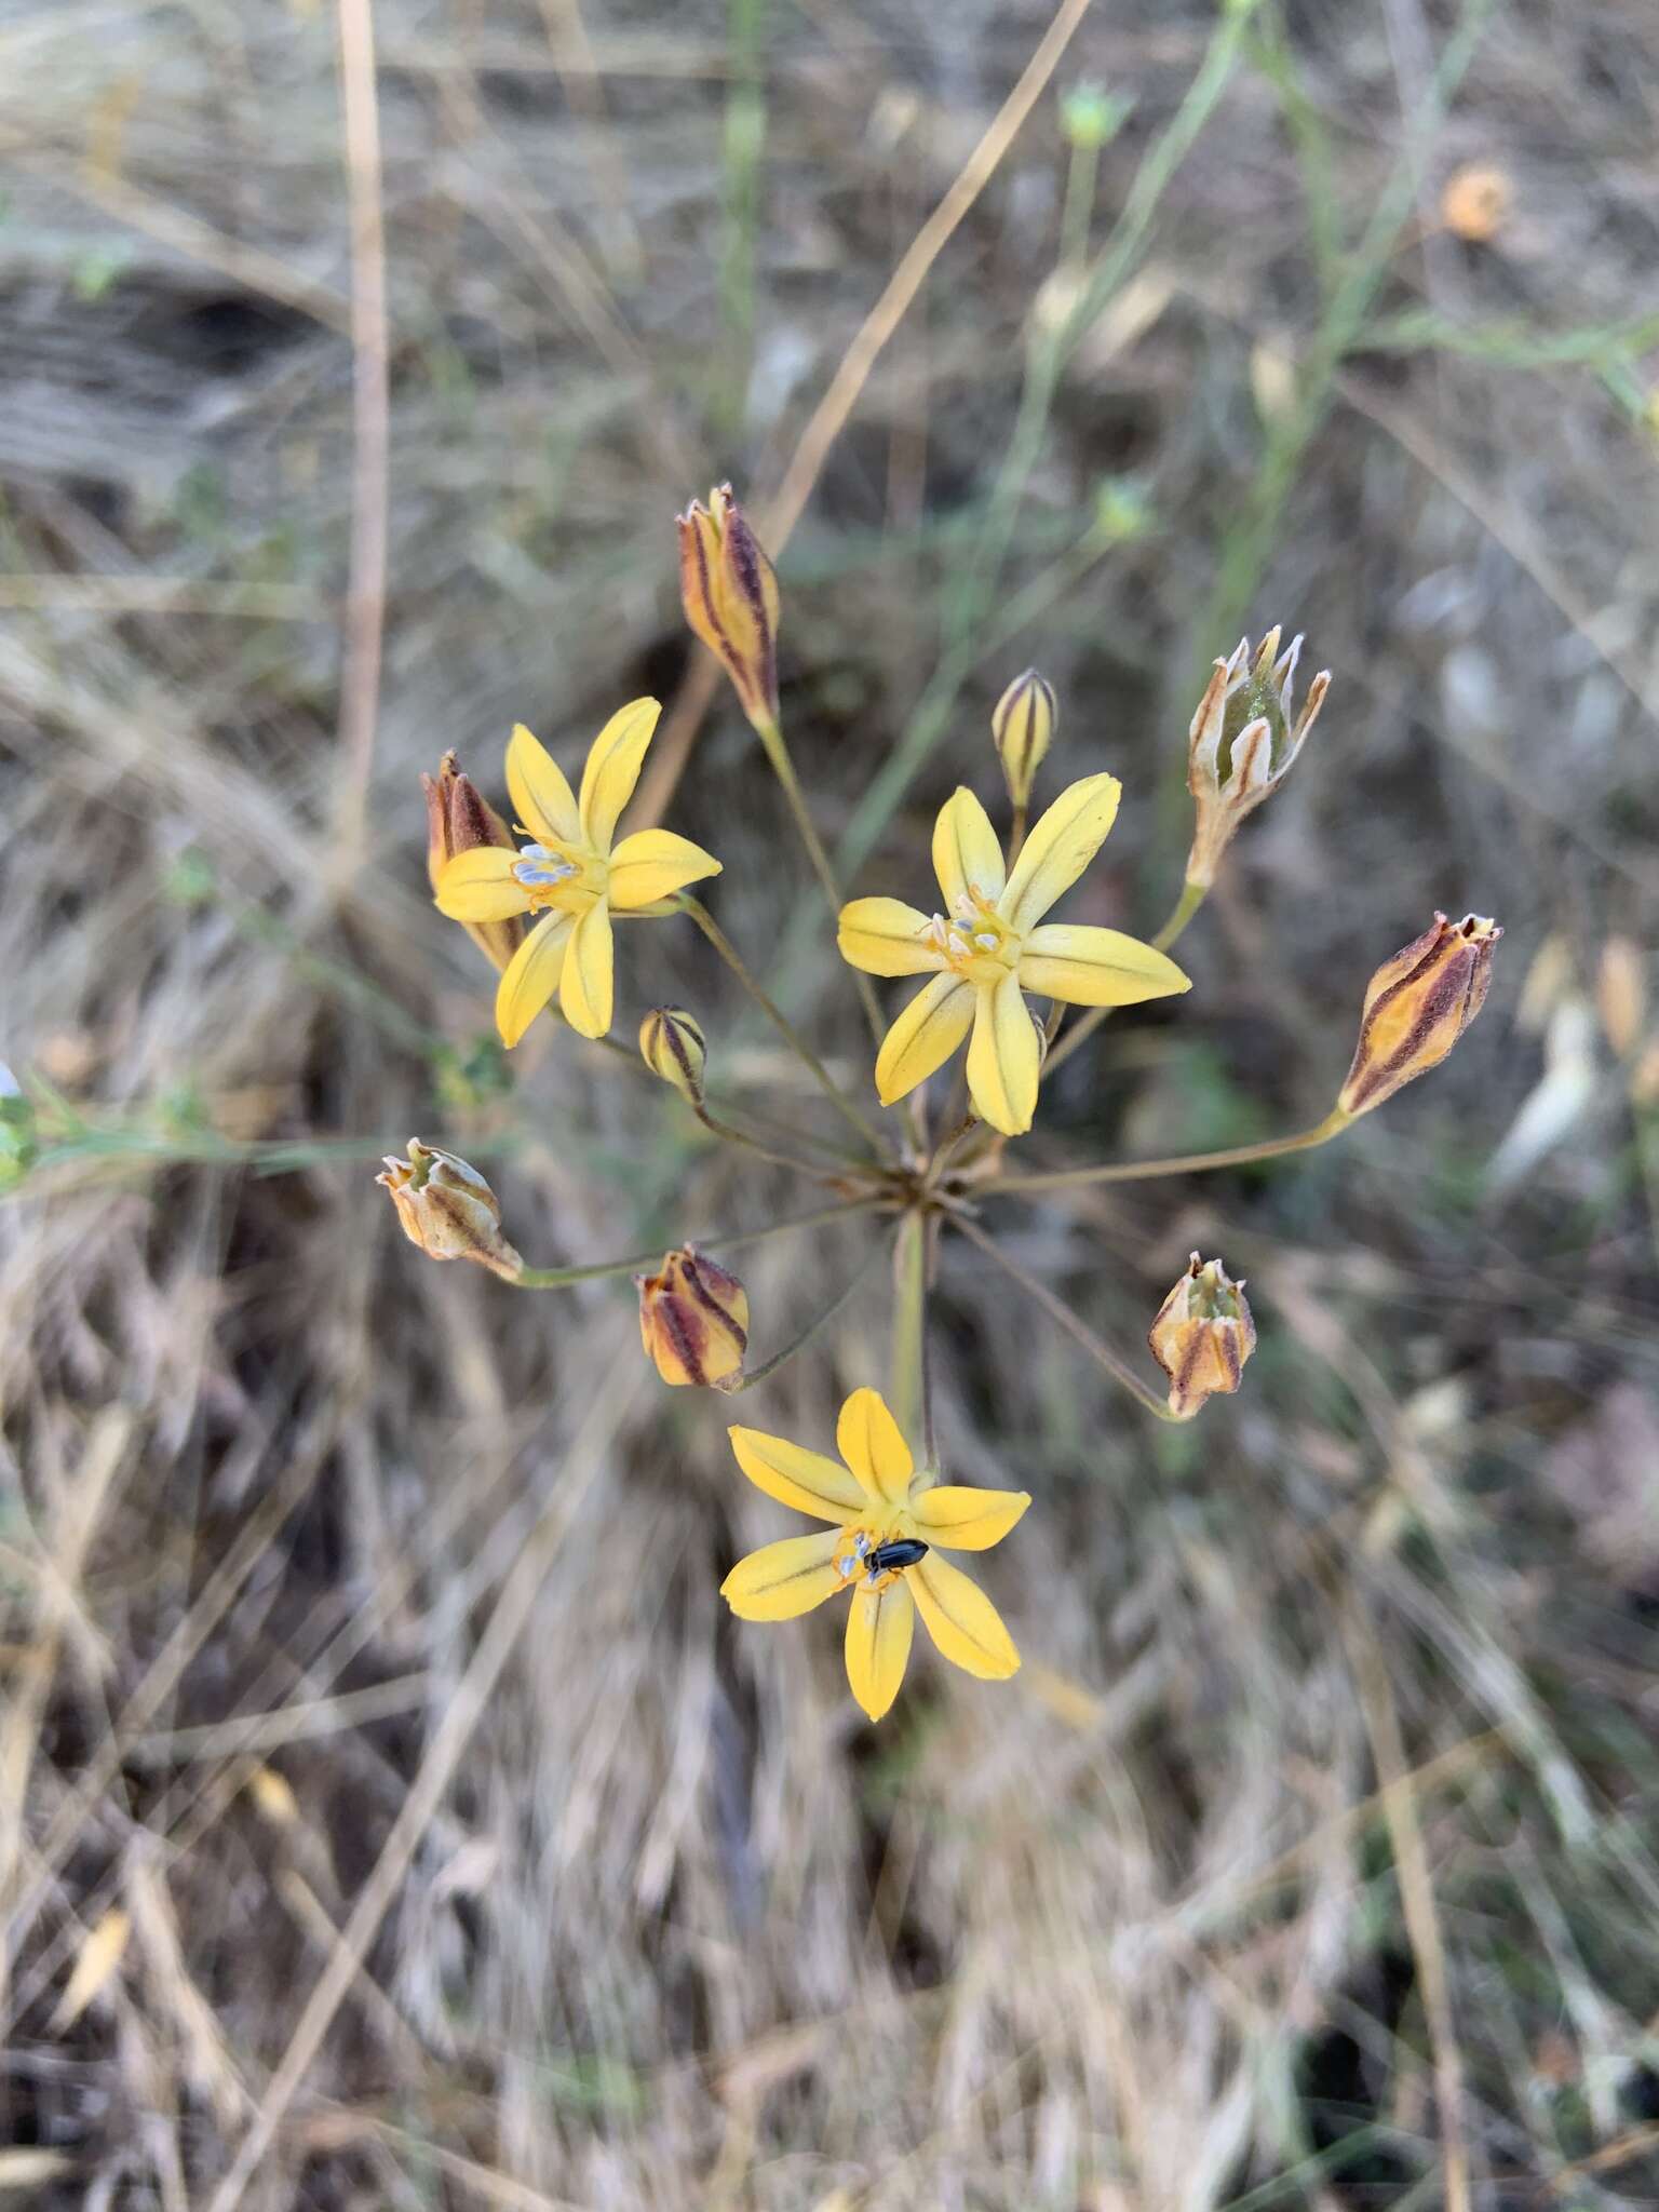
<svg viewBox="0 0 1659 2212">
<path fill-rule="evenodd" d="M 847 1681 L 872 1721 L 898 1697 L 918 1613 L 964 1672 L 1006 1681 L 1018 1670 L 1020 1652 L 1002 1615 L 940 1553 L 1000 1544 L 1031 1504 L 1026 1491 L 975 1491 L 918 1475 L 898 1422 L 874 1389 L 856 1389 L 841 1409 L 841 1464 L 759 1429 L 732 1429 L 732 1451 L 768 1498 L 834 1524 L 823 1535 L 792 1535 L 739 1559 L 721 1584 L 739 1619 L 792 1621 L 849 1593 Z"/>
</svg>

